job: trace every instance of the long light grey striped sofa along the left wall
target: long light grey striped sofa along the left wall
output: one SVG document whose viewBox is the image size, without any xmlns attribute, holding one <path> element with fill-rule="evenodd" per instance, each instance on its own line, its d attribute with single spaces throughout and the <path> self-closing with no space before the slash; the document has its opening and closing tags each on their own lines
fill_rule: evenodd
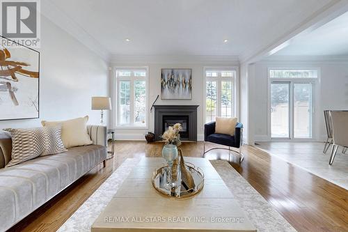
<svg viewBox="0 0 348 232">
<path fill-rule="evenodd" d="M 11 158 L 12 141 L 0 133 L 0 231 L 52 199 L 56 194 L 106 160 L 106 127 L 88 125 L 93 144 L 70 148 L 5 168 Z"/>
</svg>

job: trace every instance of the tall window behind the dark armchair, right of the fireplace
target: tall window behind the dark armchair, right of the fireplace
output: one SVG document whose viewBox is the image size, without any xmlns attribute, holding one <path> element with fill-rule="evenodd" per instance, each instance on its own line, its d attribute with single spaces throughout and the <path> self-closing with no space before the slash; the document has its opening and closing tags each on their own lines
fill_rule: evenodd
<svg viewBox="0 0 348 232">
<path fill-rule="evenodd" d="M 205 70 L 205 123 L 235 116 L 235 70 Z"/>
</svg>

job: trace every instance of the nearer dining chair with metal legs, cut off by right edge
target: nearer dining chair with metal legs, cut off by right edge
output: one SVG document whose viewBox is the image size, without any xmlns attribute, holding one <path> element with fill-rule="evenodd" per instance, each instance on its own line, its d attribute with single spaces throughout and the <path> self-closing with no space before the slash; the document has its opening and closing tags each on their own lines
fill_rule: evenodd
<svg viewBox="0 0 348 232">
<path fill-rule="evenodd" d="M 333 131 L 333 145 L 329 164 L 333 164 L 338 146 L 343 151 L 348 148 L 348 111 L 331 111 L 331 122 Z"/>
</svg>

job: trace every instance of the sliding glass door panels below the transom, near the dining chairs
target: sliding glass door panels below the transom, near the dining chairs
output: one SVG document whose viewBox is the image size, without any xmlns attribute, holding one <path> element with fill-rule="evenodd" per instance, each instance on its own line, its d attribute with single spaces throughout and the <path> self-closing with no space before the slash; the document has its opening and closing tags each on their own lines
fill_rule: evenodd
<svg viewBox="0 0 348 232">
<path fill-rule="evenodd" d="M 313 137 L 313 84 L 271 82 L 271 138 Z"/>
</svg>

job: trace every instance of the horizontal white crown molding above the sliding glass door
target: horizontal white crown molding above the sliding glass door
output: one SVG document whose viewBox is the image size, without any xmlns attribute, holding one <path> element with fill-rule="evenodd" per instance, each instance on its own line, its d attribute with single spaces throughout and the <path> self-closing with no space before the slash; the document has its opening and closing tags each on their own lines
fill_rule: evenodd
<svg viewBox="0 0 348 232">
<path fill-rule="evenodd" d="M 348 56 L 269 56 L 258 63 L 348 63 Z"/>
</svg>

